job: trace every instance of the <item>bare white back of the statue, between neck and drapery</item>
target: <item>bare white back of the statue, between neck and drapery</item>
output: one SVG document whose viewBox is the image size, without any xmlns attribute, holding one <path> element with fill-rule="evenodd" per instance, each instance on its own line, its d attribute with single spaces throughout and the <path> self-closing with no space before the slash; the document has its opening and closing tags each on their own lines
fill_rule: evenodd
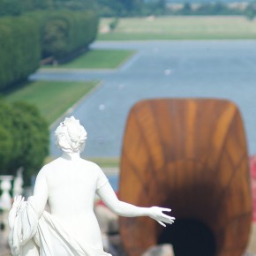
<svg viewBox="0 0 256 256">
<path fill-rule="evenodd" d="M 102 249 L 102 236 L 94 215 L 99 169 L 84 160 L 57 159 L 45 171 L 51 214 L 82 244 Z"/>
</svg>

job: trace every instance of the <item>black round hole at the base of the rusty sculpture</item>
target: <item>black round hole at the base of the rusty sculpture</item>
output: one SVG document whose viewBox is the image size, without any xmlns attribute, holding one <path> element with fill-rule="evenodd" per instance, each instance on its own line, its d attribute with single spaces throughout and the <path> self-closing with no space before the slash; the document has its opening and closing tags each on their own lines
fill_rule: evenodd
<svg viewBox="0 0 256 256">
<path fill-rule="evenodd" d="M 215 236 L 203 223 L 193 219 L 177 220 L 162 230 L 158 244 L 171 244 L 177 256 L 214 256 Z"/>
</svg>

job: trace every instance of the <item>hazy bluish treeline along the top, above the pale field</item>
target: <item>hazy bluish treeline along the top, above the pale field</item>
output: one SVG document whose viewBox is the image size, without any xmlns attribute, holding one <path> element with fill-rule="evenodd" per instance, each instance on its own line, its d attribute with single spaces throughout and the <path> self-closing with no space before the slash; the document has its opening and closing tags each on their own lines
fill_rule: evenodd
<svg viewBox="0 0 256 256">
<path fill-rule="evenodd" d="M 241 8 L 241 4 L 226 4 L 222 1 L 201 4 L 169 4 L 165 0 L 97 0 L 102 17 L 129 17 L 149 15 L 245 15 L 253 19 L 256 15 L 256 2 Z M 180 7 L 177 8 L 177 5 Z"/>
</svg>

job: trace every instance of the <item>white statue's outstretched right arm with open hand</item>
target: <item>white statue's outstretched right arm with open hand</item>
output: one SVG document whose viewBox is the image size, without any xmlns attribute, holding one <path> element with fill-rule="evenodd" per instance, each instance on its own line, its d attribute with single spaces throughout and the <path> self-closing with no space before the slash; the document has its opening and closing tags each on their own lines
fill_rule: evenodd
<svg viewBox="0 0 256 256">
<path fill-rule="evenodd" d="M 159 222 L 162 226 L 166 226 L 164 222 L 172 224 L 175 220 L 174 217 L 165 215 L 162 212 L 170 212 L 169 208 L 162 207 L 136 207 L 131 204 L 125 203 L 117 199 L 116 193 L 113 191 L 109 183 L 103 185 L 97 194 L 106 204 L 111 211 L 117 215 L 125 217 L 135 217 L 135 216 L 149 216 L 155 221 Z"/>
</svg>

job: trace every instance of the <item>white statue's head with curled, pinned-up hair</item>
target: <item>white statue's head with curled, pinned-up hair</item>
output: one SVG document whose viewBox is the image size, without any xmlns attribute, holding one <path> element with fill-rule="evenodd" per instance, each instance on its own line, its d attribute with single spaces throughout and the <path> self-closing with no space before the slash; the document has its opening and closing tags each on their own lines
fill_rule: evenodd
<svg viewBox="0 0 256 256">
<path fill-rule="evenodd" d="M 56 145 L 64 152 L 82 152 L 85 148 L 87 131 L 75 117 L 65 118 L 56 128 Z"/>
</svg>

